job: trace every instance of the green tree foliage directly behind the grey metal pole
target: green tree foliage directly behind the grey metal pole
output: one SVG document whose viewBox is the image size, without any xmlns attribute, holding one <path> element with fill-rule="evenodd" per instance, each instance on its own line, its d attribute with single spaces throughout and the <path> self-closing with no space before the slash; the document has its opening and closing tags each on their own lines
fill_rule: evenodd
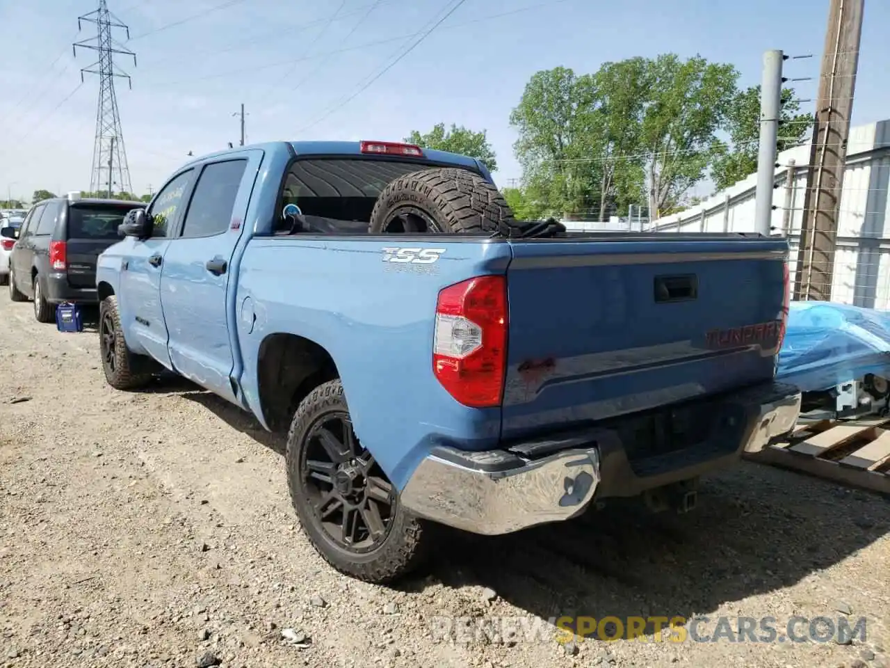
<svg viewBox="0 0 890 668">
<path fill-rule="evenodd" d="M 782 89 L 781 105 L 778 150 L 785 151 L 801 143 L 811 127 L 812 116 L 797 113 L 800 103 L 791 88 Z M 726 114 L 724 129 L 729 134 L 730 142 L 720 144 L 711 165 L 711 179 L 718 191 L 757 171 L 760 86 L 750 86 L 735 94 Z"/>
</svg>

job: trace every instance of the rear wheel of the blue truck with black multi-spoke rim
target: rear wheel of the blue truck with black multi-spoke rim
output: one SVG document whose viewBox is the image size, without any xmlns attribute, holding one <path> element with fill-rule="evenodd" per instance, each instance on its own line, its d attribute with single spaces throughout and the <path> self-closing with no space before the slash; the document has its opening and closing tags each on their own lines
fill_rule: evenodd
<svg viewBox="0 0 890 668">
<path fill-rule="evenodd" d="M 339 379 L 316 387 L 287 434 L 287 486 L 312 546 L 341 573 L 392 582 L 426 557 L 429 523 L 409 514 L 352 431 Z"/>
</svg>

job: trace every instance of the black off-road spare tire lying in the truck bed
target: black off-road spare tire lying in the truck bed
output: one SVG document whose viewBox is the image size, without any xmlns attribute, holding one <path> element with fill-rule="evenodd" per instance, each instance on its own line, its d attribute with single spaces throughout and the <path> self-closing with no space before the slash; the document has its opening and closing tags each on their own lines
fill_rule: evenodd
<svg viewBox="0 0 890 668">
<path fill-rule="evenodd" d="M 368 232 L 505 233 L 515 224 L 494 185 L 466 169 L 437 167 L 387 185 L 371 212 Z"/>
</svg>

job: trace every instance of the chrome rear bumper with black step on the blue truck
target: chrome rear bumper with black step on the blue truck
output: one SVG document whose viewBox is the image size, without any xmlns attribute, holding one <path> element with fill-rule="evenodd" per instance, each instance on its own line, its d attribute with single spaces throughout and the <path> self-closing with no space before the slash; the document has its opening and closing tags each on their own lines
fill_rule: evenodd
<svg viewBox="0 0 890 668">
<path fill-rule="evenodd" d="M 635 496 L 729 465 L 742 452 L 761 451 L 794 428 L 800 394 L 769 383 L 724 395 L 717 405 L 720 420 L 706 441 L 646 460 L 628 459 L 613 428 L 487 452 L 437 447 L 418 465 L 401 501 L 420 517 L 474 534 L 570 519 L 595 498 Z"/>
</svg>

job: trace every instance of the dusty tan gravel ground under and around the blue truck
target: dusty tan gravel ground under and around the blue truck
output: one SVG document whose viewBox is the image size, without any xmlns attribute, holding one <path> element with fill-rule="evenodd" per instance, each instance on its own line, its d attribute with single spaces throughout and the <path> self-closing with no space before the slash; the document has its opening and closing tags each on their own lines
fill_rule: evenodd
<svg viewBox="0 0 890 668">
<path fill-rule="evenodd" d="M 388 589 L 315 554 L 282 444 L 247 414 L 182 381 L 116 392 L 93 328 L 61 334 L 5 297 L 0 342 L 0 666 L 890 666 L 876 495 L 746 463 L 703 481 L 684 516 L 630 502 L 454 534 Z M 442 615 L 849 615 L 868 638 L 448 641 Z"/>
</svg>

